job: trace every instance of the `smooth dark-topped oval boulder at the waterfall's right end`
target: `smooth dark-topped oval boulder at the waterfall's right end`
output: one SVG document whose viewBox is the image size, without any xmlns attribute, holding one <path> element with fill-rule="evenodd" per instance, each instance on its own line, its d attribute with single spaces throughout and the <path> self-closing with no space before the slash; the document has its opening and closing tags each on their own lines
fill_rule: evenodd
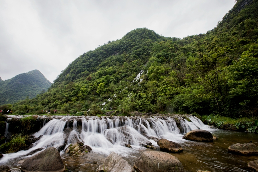
<svg viewBox="0 0 258 172">
<path fill-rule="evenodd" d="M 185 140 L 196 142 L 213 142 L 213 136 L 206 130 L 192 130 L 183 136 Z"/>
</svg>

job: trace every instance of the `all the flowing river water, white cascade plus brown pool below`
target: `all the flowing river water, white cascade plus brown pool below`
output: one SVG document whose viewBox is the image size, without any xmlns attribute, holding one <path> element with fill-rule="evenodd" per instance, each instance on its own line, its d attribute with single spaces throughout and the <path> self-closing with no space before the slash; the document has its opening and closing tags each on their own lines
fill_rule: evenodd
<svg viewBox="0 0 258 172">
<path fill-rule="evenodd" d="M 41 117 L 42 118 L 42 117 Z M 258 137 L 253 133 L 218 130 L 204 125 L 198 118 L 188 116 L 189 120 L 180 116 L 151 116 L 151 117 L 84 117 L 65 116 L 52 119 L 34 133 L 40 140 L 35 142 L 29 150 L 17 153 L 3 154 L 0 165 L 8 165 L 12 171 L 20 171 L 26 154 L 38 148 L 56 147 L 81 141 L 89 145 L 92 151 L 84 157 L 69 156 L 62 150 L 60 155 L 68 171 L 97 171 L 103 164 L 105 157 L 111 152 L 119 154 L 133 165 L 134 161 L 145 150 L 146 144 L 152 143 L 157 147 L 158 138 L 165 138 L 181 144 L 182 153 L 171 153 L 184 166 L 185 171 L 210 170 L 220 171 L 248 171 L 247 163 L 258 157 L 244 157 L 227 153 L 227 148 L 234 143 L 253 141 L 258 145 Z M 195 129 L 210 131 L 218 140 L 213 143 L 193 142 L 183 140 L 183 134 Z M 8 131 L 8 123 L 7 123 Z M 6 132 L 7 132 L 6 131 Z M 123 146 L 130 144 L 132 148 Z M 64 148 L 64 150 L 65 150 Z"/>
</svg>

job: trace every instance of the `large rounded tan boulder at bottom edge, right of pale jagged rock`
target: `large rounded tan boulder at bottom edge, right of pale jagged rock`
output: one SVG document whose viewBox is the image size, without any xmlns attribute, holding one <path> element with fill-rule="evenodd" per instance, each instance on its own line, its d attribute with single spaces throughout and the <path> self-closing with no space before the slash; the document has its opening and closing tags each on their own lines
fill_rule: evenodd
<svg viewBox="0 0 258 172">
<path fill-rule="evenodd" d="M 145 151 L 134 162 L 134 169 L 139 172 L 183 172 L 182 163 L 166 152 Z"/>
</svg>

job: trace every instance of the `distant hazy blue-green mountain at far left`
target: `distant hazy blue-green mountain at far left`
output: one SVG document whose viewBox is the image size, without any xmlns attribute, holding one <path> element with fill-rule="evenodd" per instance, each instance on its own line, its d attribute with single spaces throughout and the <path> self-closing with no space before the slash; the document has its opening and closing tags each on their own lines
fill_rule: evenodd
<svg viewBox="0 0 258 172">
<path fill-rule="evenodd" d="M 31 99 L 50 86 L 51 83 L 38 70 L 19 74 L 0 82 L 0 105 Z"/>
</svg>

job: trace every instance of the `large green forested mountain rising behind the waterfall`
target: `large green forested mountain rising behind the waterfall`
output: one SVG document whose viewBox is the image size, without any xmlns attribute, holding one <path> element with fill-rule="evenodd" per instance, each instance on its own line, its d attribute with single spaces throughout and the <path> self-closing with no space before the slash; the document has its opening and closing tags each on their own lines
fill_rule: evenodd
<svg viewBox="0 0 258 172">
<path fill-rule="evenodd" d="M 257 116 L 257 10 L 257 0 L 238 0 L 213 30 L 183 39 L 133 30 L 82 54 L 47 92 L 15 107 Z"/>
</svg>

